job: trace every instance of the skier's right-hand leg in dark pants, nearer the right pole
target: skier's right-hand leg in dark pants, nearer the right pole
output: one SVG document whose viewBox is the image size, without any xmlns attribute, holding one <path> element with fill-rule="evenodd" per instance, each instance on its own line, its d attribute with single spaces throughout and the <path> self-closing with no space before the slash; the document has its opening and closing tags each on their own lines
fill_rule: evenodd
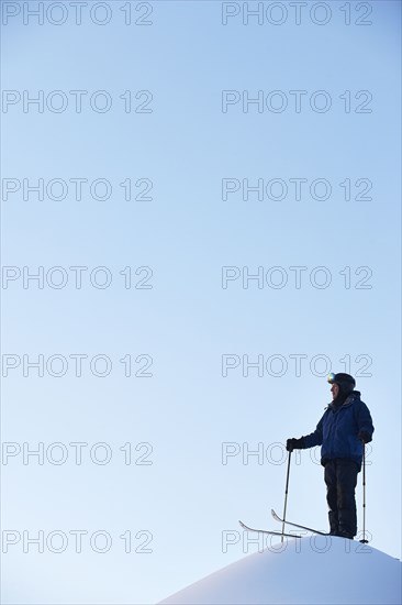
<svg viewBox="0 0 402 605">
<path fill-rule="evenodd" d="M 339 535 L 353 538 L 357 534 L 355 488 L 359 468 L 348 459 L 337 460 L 337 510 Z"/>
</svg>

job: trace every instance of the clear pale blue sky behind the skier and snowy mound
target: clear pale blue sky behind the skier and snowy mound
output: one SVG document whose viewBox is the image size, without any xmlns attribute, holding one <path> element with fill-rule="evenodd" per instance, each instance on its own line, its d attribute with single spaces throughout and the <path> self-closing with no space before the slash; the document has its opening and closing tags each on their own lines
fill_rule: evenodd
<svg viewBox="0 0 402 605">
<path fill-rule="evenodd" d="M 1 4 L 3 600 L 255 552 L 331 371 L 400 557 L 400 2 Z M 314 452 L 288 518 L 327 527 Z"/>
</svg>

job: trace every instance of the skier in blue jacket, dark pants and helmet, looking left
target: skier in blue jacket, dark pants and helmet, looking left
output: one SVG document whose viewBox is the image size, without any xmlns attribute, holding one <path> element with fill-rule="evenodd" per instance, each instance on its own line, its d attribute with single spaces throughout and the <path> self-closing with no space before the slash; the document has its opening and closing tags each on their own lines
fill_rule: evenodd
<svg viewBox="0 0 402 605">
<path fill-rule="evenodd" d="M 314 432 L 300 439 L 288 439 L 287 450 L 321 448 L 324 466 L 330 532 L 353 539 L 357 532 L 355 487 L 361 469 L 364 443 L 372 439 L 371 415 L 356 382 L 349 374 L 330 374 L 332 403 L 327 406 Z"/>
</svg>

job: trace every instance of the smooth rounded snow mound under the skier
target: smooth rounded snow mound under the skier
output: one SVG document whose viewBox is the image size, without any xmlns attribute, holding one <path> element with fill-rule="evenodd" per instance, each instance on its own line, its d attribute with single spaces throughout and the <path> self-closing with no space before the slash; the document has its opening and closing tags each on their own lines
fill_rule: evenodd
<svg viewBox="0 0 402 605">
<path fill-rule="evenodd" d="M 164 605 L 388 605 L 402 603 L 401 562 L 334 537 L 289 539 L 161 601 Z M 283 548 L 282 551 L 280 549 Z"/>
</svg>

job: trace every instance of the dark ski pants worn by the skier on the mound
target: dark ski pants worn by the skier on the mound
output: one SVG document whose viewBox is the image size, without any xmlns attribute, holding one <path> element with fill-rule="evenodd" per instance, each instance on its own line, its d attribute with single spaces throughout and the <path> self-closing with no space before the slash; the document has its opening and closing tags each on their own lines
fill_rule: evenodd
<svg viewBox="0 0 402 605">
<path fill-rule="evenodd" d="M 335 536 L 353 538 L 357 532 L 355 487 L 359 465 L 354 460 L 337 458 L 325 464 L 326 502 L 330 530 Z"/>
</svg>

